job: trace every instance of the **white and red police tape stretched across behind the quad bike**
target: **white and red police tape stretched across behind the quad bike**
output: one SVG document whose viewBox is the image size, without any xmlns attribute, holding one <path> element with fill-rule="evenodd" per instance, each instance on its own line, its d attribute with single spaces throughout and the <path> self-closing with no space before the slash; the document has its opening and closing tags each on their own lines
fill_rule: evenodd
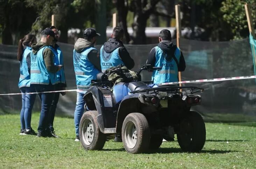
<svg viewBox="0 0 256 169">
<path fill-rule="evenodd" d="M 170 84 L 185 84 L 185 83 L 204 83 L 204 82 L 220 82 L 220 81 L 227 81 L 227 80 L 241 80 L 241 79 L 254 79 L 256 76 L 240 76 L 240 77 L 225 77 L 225 78 L 214 78 L 214 79 L 199 79 L 199 80 L 187 80 L 182 82 L 170 82 L 170 83 L 159 83 L 158 85 L 170 85 Z M 40 93 L 57 93 L 57 92 L 74 92 L 79 91 L 78 89 L 71 89 L 71 90 L 59 90 L 59 91 L 49 91 L 49 92 L 33 92 L 33 93 L 26 93 L 26 94 L 40 94 Z M 0 94 L 0 95 L 19 95 L 23 93 L 7 93 L 7 94 Z"/>
</svg>

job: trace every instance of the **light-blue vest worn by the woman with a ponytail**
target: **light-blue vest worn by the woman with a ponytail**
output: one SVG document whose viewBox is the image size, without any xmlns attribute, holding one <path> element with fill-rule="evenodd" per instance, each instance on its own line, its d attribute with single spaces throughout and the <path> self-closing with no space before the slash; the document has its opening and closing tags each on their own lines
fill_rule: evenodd
<svg viewBox="0 0 256 169">
<path fill-rule="evenodd" d="M 27 56 L 31 52 L 31 47 L 26 46 L 23 51 L 22 61 L 20 61 L 20 79 L 18 86 L 21 87 L 30 87 L 30 74 L 28 72 Z"/>
</svg>

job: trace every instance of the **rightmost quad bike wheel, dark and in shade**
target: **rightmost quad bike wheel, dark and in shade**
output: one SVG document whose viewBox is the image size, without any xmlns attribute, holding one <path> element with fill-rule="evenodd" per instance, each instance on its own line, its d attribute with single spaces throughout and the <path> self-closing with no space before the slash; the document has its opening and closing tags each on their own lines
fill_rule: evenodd
<svg viewBox="0 0 256 169">
<path fill-rule="evenodd" d="M 189 112 L 187 118 L 180 123 L 177 139 L 180 148 L 186 152 L 199 152 L 205 144 L 206 130 L 202 116 L 197 112 Z"/>
</svg>

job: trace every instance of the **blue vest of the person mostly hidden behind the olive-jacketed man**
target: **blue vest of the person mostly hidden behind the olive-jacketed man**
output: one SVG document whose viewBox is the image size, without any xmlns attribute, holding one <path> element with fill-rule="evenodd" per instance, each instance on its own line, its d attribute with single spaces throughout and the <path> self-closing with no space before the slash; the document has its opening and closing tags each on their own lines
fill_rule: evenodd
<svg viewBox="0 0 256 169">
<path fill-rule="evenodd" d="M 63 55 L 61 49 L 58 47 L 57 50 L 50 46 L 52 52 L 54 53 L 54 65 L 63 65 Z M 64 68 L 62 67 L 60 71 L 56 73 L 57 83 L 66 83 Z"/>
</svg>

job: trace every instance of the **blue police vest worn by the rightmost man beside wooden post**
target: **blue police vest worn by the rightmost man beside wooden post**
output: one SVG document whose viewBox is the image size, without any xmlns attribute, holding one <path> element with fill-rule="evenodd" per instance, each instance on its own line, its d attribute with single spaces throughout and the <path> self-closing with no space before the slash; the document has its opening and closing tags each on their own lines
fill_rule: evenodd
<svg viewBox="0 0 256 169">
<path fill-rule="evenodd" d="M 161 48 L 155 47 L 156 50 L 156 62 L 155 67 L 162 67 L 161 70 L 154 70 L 152 73 L 152 81 L 155 84 L 168 83 L 168 82 L 178 82 L 178 65 L 175 60 L 166 60 L 164 55 L 166 55 Z M 174 53 L 178 63 L 180 58 L 180 49 L 177 47 Z"/>
</svg>

